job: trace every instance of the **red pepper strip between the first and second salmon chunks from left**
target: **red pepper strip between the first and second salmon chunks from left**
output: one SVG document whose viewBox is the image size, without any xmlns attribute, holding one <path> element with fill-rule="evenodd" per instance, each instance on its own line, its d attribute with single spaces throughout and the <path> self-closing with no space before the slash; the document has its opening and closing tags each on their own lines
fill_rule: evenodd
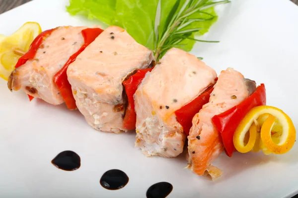
<svg viewBox="0 0 298 198">
<path fill-rule="evenodd" d="M 54 82 L 56 83 L 58 90 L 61 93 L 62 98 L 64 99 L 67 107 L 70 110 L 76 109 L 76 104 L 74 100 L 74 95 L 72 91 L 72 86 L 68 81 L 67 78 L 67 68 L 68 66 L 74 62 L 76 57 L 89 45 L 91 44 L 98 35 L 100 35 L 103 32 L 100 28 L 87 28 L 81 31 L 82 36 L 84 38 L 84 45 L 81 46 L 80 49 L 78 49 L 77 52 L 75 52 L 65 63 L 65 65 L 61 68 L 59 72 L 57 72 L 54 76 Z"/>
</svg>

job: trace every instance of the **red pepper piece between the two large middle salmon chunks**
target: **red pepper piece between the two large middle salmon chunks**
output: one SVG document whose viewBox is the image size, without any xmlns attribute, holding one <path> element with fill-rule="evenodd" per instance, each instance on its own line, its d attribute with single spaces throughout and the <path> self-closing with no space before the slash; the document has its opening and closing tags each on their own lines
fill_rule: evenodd
<svg viewBox="0 0 298 198">
<path fill-rule="evenodd" d="M 128 98 L 128 106 L 126 108 L 124 116 L 123 127 L 127 130 L 136 129 L 137 114 L 135 111 L 134 94 L 136 93 L 138 86 L 141 84 L 142 80 L 145 78 L 146 73 L 150 72 L 152 69 L 153 67 L 138 70 L 137 73 L 123 82 Z"/>
</svg>

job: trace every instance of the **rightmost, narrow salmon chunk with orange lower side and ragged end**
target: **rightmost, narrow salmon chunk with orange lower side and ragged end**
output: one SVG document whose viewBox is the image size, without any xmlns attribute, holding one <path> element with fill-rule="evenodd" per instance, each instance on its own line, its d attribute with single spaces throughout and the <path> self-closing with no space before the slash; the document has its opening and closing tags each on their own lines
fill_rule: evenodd
<svg viewBox="0 0 298 198">
<path fill-rule="evenodd" d="M 211 165 L 224 150 L 220 134 L 211 119 L 248 98 L 255 89 L 256 83 L 245 79 L 238 71 L 228 68 L 221 72 L 209 102 L 192 120 L 188 136 L 188 166 L 193 172 L 209 174 L 212 179 L 222 175 L 222 170 Z"/>
</svg>

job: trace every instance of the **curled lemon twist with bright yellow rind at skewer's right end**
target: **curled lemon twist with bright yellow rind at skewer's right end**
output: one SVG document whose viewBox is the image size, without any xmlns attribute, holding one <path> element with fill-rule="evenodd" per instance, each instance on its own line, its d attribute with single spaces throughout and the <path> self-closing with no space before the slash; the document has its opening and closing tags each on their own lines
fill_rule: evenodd
<svg viewBox="0 0 298 198">
<path fill-rule="evenodd" d="M 252 141 L 258 142 L 253 147 L 244 145 L 245 135 L 252 124 L 261 125 L 261 142 L 258 135 L 253 136 Z M 265 154 L 286 153 L 294 146 L 295 140 L 296 129 L 291 118 L 281 109 L 265 105 L 252 108 L 241 120 L 233 136 L 234 146 L 239 152 L 248 152 L 254 148 L 253 151 L 262 149 Z"/>
</svg>

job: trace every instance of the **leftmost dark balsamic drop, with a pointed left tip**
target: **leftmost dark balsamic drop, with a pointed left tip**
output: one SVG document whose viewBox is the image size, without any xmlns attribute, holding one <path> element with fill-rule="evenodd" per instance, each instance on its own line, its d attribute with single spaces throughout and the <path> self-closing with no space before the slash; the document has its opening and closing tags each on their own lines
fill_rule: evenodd
<svg viewBox="0 0 298 198">
<path fill-rule="evenodd" d="M 52 164 L 59 169 L 73 171 L 80 167 L 80 157 L 74 151 L 65 150 L 52 160 Z"/>
</svg>

